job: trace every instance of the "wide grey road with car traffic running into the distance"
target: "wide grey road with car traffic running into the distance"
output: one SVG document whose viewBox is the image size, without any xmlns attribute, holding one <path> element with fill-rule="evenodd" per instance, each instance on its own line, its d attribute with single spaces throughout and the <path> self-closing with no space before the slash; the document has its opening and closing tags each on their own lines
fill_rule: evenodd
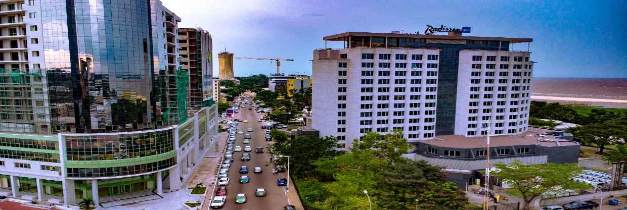
<svg viewBox="0 0 627 210">
<path fill-rule="evenodd" d="M 250 98 L 248 98 L 248 101 L 250 101 Z M 245 105 L 246 108 L 240 108 L 239 115 L 241 116 L 241 120 L 248 120 L 248 123 L 240 122 L 240 125 L 238 125 L 238 130 L 243 130 L 244 134 L 237 134 L 233 147 L 240 145 L 242 147 L 242 151 L 233 152 L 234 160 L 231 163 L 231 168 L 228 172 L 230 180 L 228 186 L 226 187 L 226 204 L 224 204 L 223 209 L 283 209 L 283 206 L 288 205 L 288 197 L 283 191 L 284 186 L 277 186 L 277 178 L 287 178 L 287 174 L 279 173 L 273 175 L 272 165 L 265 166 L 265 162 L 270 160 L 270 156 L 267 153 L 268 150 L 265 149 L 266 146 L 268 146 L 268 142 L 265 141 L 265 129 L 261 129 L 261 122 L 257 122 L 257 120 L 261 118 L 261 115 L 256 113 L 254 108 L 253 110 L 248 110 L 248 107 L 250 106 L 250 104 L 247 104 Z M 248 132 L 247 130 L 249 128 L 253 129 L 253 132 Z M 250 144 L 243 144 L 245 134 L 251 134 Z M 244 152 L 243 148 L 246 145 L 250 145 L 252 147 L 250 152 Z M 255 153 L 255 147 L 264 147 L 264 153 Z M 249 153 L 251 155 L 251 159 L 249 161 L 242 161 L 241 155 L 243 153 Z M 248 174 L 240 174 L 239 171 L 241 165 L 248 166 Z M 263 172 L 261 174 L 253 173 L 253 169 L 255 167 L 262 167 Z M 250 182 L 240 184 L 240 176 L 242 175 L 250 177 Z M 291 180 L 290 185 L 292 185 Z M 255 190 L 257 188 L 264 188 L 267 196 L 255 197 Z M 290 188 L 292 187 L 290 186 Z M 235 203 L 235 197 L 240 193 L 246 194 L 246 202 L 244 204 Z M 290 191 L 290 194 L 295 194 L 295 192 Z M 214 195 L 215 192 L 212 193 L 212 199 Z"/>
</svg>

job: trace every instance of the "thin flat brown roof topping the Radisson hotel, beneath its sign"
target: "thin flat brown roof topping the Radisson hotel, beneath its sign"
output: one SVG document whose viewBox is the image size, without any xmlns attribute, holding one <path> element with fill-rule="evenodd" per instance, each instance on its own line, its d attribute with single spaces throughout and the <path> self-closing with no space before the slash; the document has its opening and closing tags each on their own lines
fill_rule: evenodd
<svg viewBox="0 0 627 210">
<path fill-rule="evenodd" d="M 345 32 L 325 36 L 325 41 L 345 41 L 348 36 L 385 36 L 396 38 L 424 38 L 424 39 L 458 39 L 458 40 L 487 40 L 487 41 L 509 41 L 510 43 L 532 42 L 532 38 L 505 38 L 505 37 L 485 37 L 485 36 L 447 36 L 447 35 L 424 35 L 424 34 L 401 34 L 401 33 L 369 33 L 369 32 Z"/>
</svg>

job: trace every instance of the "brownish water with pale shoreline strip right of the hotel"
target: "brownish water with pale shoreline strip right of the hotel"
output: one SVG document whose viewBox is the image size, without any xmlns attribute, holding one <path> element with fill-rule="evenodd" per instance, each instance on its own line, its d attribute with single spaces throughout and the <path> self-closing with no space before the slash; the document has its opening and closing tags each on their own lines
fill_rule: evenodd
<svg viewBox="0 0 627 210">
<path fill-rule="evenodd" d="M 627 108 L 627 78 L 532 78 L 531 99 Z"/>
</svg>

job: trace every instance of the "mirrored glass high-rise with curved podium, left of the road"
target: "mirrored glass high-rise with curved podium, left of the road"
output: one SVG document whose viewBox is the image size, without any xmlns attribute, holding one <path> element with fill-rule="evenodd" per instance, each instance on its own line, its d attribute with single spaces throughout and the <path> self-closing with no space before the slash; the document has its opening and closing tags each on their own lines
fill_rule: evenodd
<svg viewBox="0 0 627 210">
<path fill-rule="evenodd" d="M 0 62 L 0 188 L 9 196 L 69 205 L 162 194 L 201 165 L 218 134 L 217 105 L 209 98 L 210 107 L 188 115 L 185 100 L 164 103 L 180 102 L 187 87 L 178 86 L 189 80 L 178 70 L 180 19 L 160 1 L 18 0 L 0 8 L 8 20 L 0 24 L 0 56 L 8 58 Z M 167 122 L 164 113 L 180 110 L 187 119 Z"/>
</svg>

